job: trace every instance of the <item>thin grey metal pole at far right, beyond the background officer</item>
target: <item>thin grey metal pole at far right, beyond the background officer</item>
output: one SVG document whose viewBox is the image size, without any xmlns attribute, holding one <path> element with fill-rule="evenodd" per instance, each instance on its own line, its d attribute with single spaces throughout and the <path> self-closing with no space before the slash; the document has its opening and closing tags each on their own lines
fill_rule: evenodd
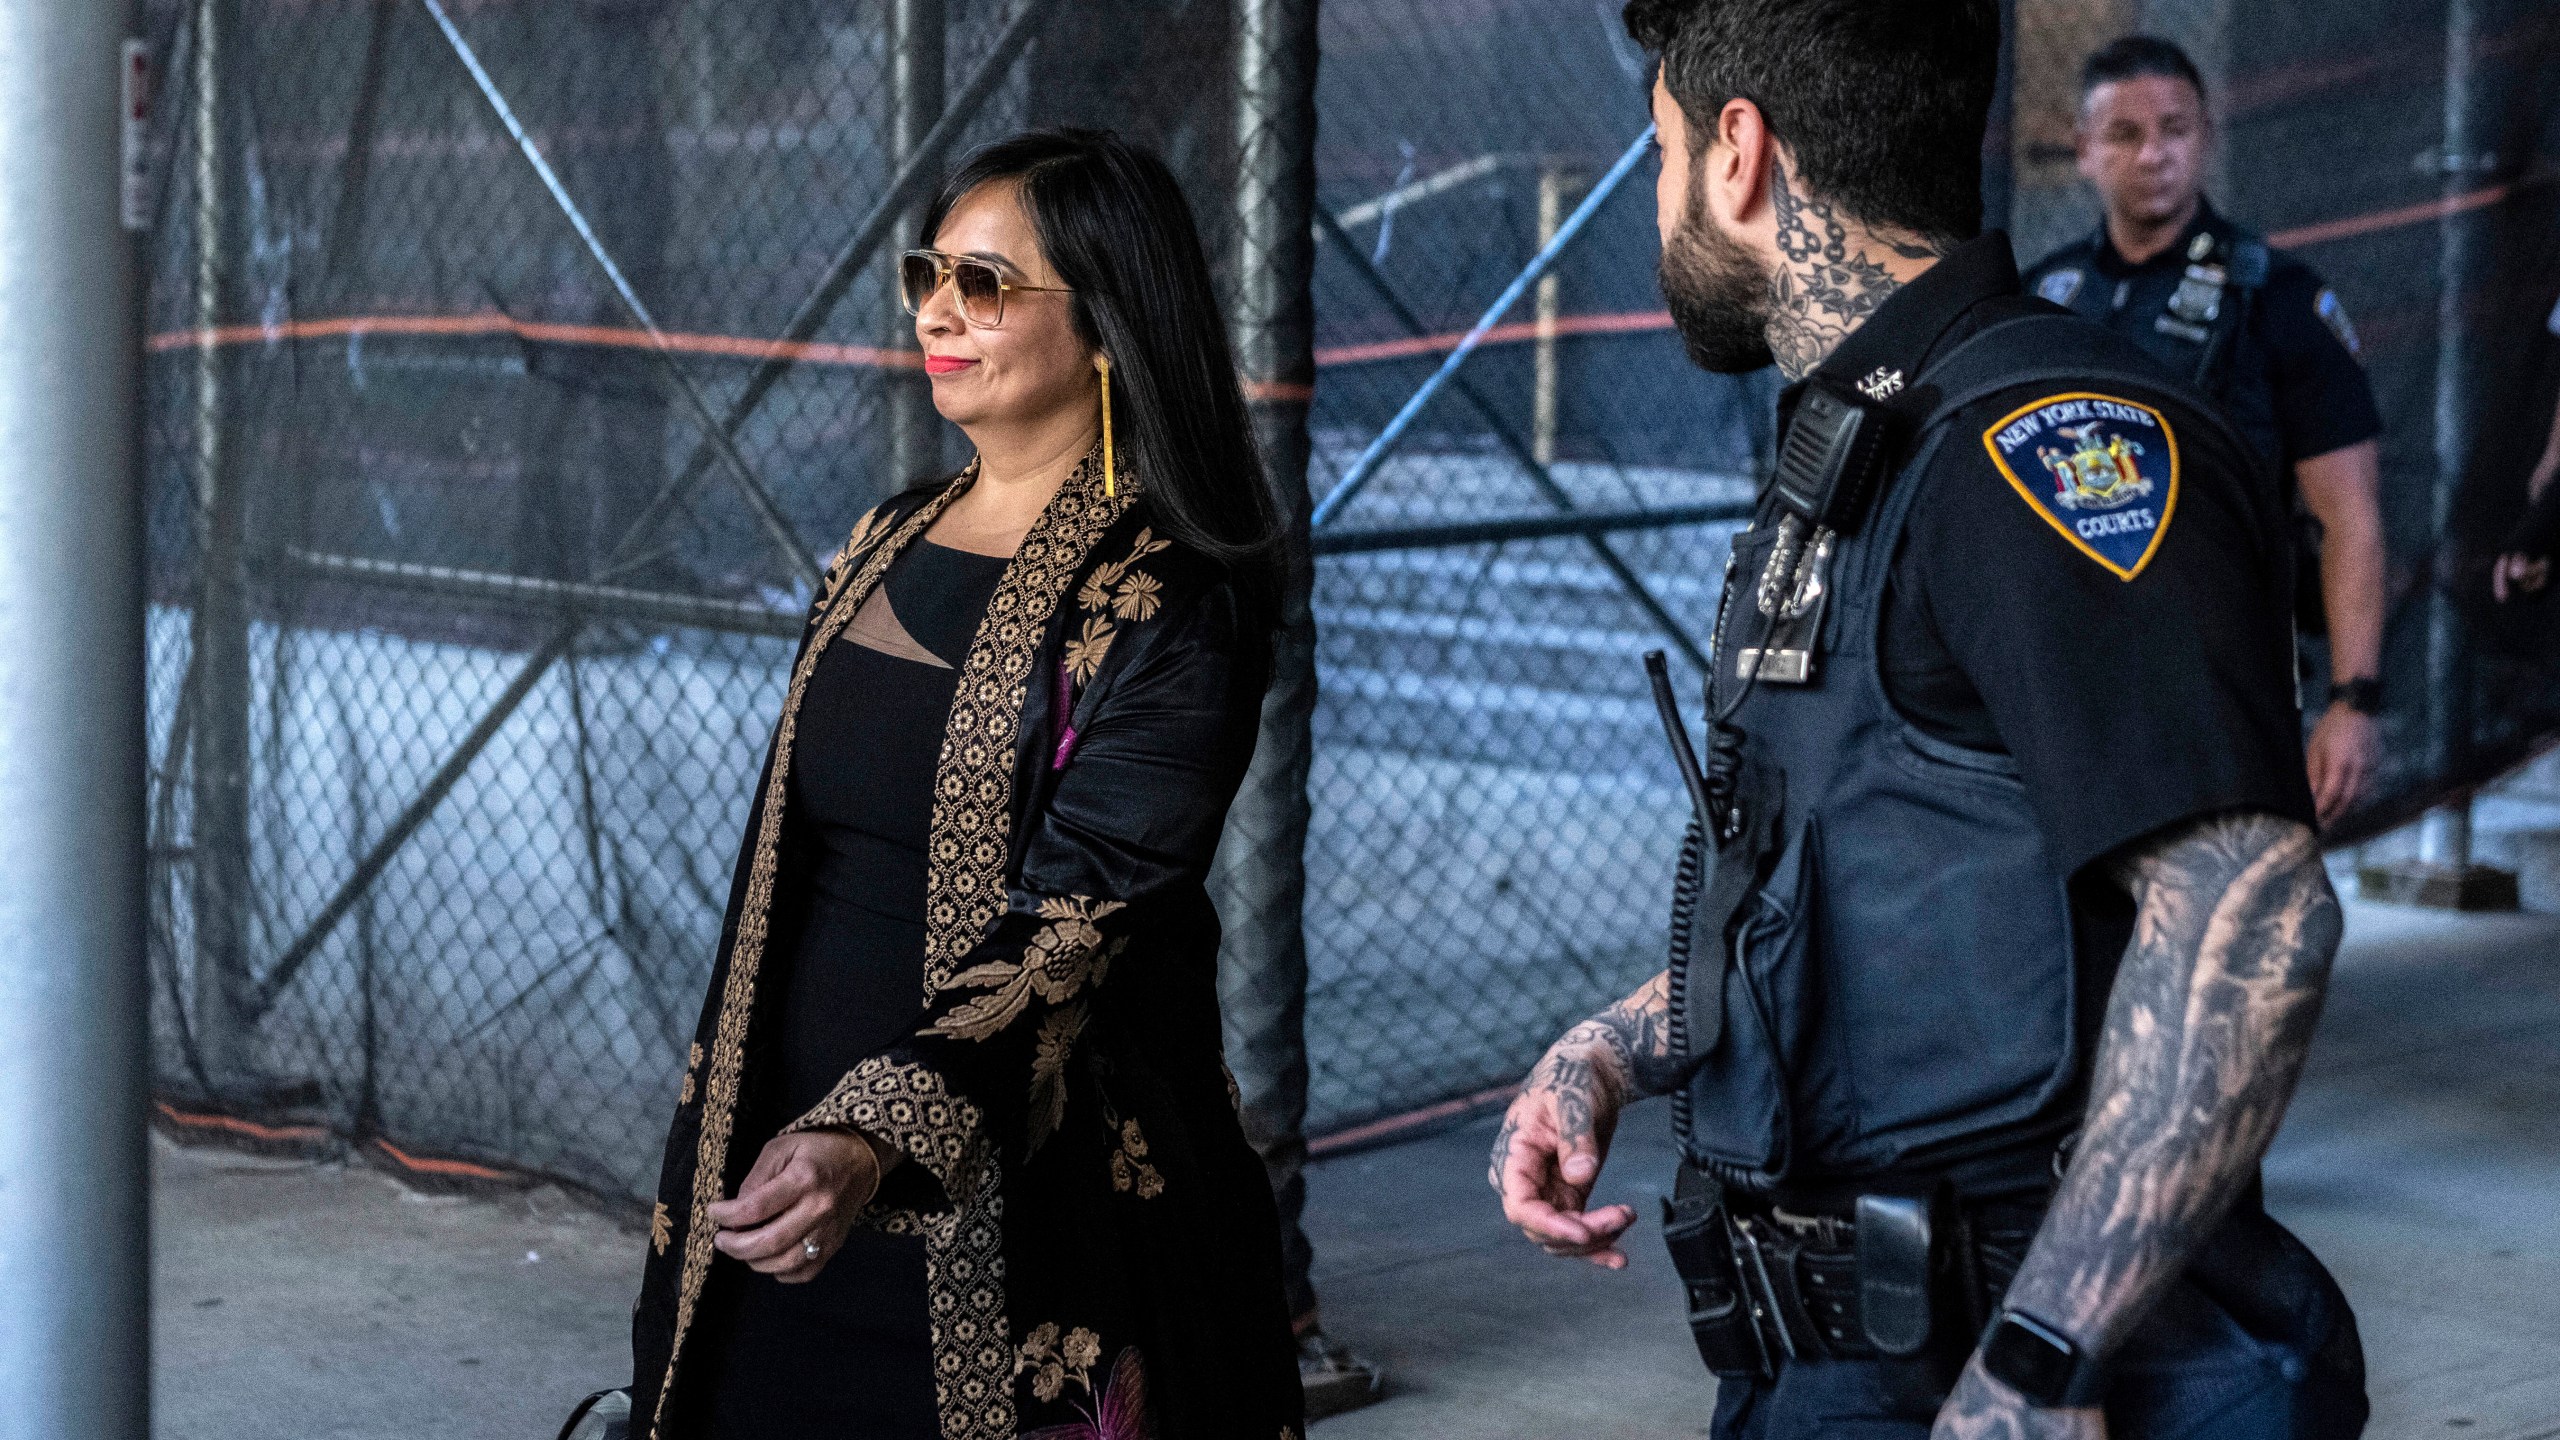
<svg viewBox="0 0 2560 1440">
<path fill-rule="evenodd" d="M 2445 5 L 2445 141 L 2437 151 L 2445 174 L 2445 218 L 2437 223 L 2442 261 L 2435 313 L 2435 492 L 2429 495 L 2429 541 L 2435 543 L 2435 587 L 2427 597 L 2427 771 L 2455 774 L 2470 756 L 2470 635 L 2452 597 L 2460 541 L 2452 530 L 2455 500 L 2470 469 L 2470 374 L 2463 302 L 2483 272 L 2481 215 L 2452 202 L 2473 184 L 2478 156 L 2488 141 L 2476 82 L 2473 51 L 2481 38 L 2478 0 Z M 2455 815 L 2455 810 L 2460 810 Z M 2458 799 L 2427 815 L 2419 830 L 2424 863 L 2470 866 L 2470 799 Z"/>
</svg>

